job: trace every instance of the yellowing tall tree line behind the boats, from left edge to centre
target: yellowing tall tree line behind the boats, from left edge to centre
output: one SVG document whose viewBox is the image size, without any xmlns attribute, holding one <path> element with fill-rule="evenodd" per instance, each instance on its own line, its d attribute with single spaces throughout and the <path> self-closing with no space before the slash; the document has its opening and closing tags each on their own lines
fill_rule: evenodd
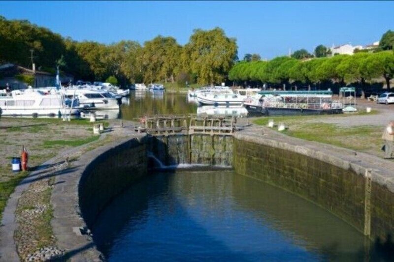
<svg viewBox="0 0 394 262">
<path fill-rule="evenodd" d="M 226 79 L 236 59 L 236 40 L 220 28 L 194 30 L 185 46 L 161 35 L 143 45 L 126 40 L 104 45 L 74 41 L 29 21 L 0 16 L 0 63 L 31 68 L 34 62 L 37 69 L 48 72 L 60 65 L 76 80 L 104 81 L 113 76 L 122 85 L 176 79 L 213 84 Z"/>
</svg>

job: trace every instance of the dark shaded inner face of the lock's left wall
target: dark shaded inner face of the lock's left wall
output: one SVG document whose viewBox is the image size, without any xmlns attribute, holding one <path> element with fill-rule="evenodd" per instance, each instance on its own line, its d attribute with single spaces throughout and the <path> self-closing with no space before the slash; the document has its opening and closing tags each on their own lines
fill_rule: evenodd
<svg viewBox="0 0 394 262">
<path fill-rule="evenodd" d="M 78 185 L 79 205 L 89 228 L 99 212 L 135 180 L 147 174 L 146 146 L 137 139 L 102 152 L 85 169 Z"/>
</svg>

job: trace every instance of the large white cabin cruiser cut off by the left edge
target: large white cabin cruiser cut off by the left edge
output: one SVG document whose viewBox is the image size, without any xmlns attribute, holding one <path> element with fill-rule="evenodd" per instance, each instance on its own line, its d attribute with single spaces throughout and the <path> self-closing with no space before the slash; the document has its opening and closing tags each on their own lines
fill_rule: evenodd
<svg viewBox="0 0 394 262">
<path fill-rule="evenodd" d="M 80 112 L 78 99 L 71 101 L 59 92 L 45 92 L 38 89 L 11 91 L 9 96 L 0 96 L 2 116 L 21 117 L 60 117 L 78 115 Z"/>
</svg>

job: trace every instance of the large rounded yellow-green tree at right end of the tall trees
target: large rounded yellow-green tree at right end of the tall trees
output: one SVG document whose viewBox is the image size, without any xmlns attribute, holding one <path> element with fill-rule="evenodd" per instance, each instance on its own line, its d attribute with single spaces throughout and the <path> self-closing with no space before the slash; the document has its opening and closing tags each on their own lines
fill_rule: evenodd
<svg viewBox="0 0 394 262">
<path fill-rule="evenodd" d="M 199 84 L 223 82 L 237 57 L 236 40 L 220 28 L 195 29 L 184 49 Z"/>
</svg>

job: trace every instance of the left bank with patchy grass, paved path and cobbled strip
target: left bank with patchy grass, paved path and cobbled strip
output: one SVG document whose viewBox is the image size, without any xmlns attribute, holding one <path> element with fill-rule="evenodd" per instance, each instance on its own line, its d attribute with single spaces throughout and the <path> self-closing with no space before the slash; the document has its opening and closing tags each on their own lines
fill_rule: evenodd
<svg viewBox="0 0 394 262">
<path fill-rule="evenodd" d="M 102 123 L 109 126 L 109 122 Z M 85 119 L 64 122 L 61 119 L 1 118 L 0 135 L 4 150 L 0 152 L 0 188 L 3 189 L 0 191 L 3 216 L 0 221 L 7 231 L 0 230 L 0 242 L 2 248 L 8 245 L 8 251 L 14 254 L 11 257 L 3 254 L 3 257 L 31 261 L 62 254 L 62 250 L 56 247 L 50 225 L 54 177 L 67 174 L 72 162 L 84 152 L 116 140 L 113 132 L 93 135 L 92 126 Z M 108 127 L 107 131 L 110 130 Z M 22 145 L 30 154 L 30 168 L 28 172 L 15 174 L 6 160 L 10 156 L 18 156 Z M 42 164 L 48 158 L 51 160 Z"/>
</svg>

